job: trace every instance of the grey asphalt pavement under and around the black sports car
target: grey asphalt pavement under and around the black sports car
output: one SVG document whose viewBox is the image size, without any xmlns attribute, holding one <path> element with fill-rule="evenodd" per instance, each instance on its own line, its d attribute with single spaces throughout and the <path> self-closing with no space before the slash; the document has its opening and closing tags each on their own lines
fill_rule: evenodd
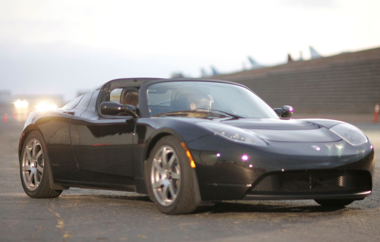
<svg viewBox="0 0 380 242">
<path fill-rule="evenodd" d="M 359 124 L 380 154 L 380 123 Z M 380 160 L 372 196 L 344 208 L 311 200 L 223 201 L 161 214 L 146 195 L 70 188 L 32 199 L 20 182 L 23 123 L 0 123 L 0 241 L 380 241 Z"/>
</svg>

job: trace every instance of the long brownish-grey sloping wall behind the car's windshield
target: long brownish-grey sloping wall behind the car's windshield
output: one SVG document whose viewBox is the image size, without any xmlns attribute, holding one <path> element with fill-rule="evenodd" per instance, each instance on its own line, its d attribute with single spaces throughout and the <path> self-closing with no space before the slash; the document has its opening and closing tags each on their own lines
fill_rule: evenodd
<svg viewBox="0 0 380 242">
<path fill-rule="evenodd" d="M 299 114 L 373 114 L 380 103 L 380 48 L 212 76 L 241 83 L 273 108 Z"/>
</svg>

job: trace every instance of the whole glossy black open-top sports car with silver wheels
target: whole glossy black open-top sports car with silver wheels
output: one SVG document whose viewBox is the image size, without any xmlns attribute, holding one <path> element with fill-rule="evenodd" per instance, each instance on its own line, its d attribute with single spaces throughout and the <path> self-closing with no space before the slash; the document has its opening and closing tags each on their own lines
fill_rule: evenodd
<svg viewBox="0 0 380 242">
<path fill-rule="evenodd" d="M 32 198 L 69 187 L 135 191 L 165 214 L 229 199 L 346 206 L 370 196 L 367 136 L 292 113 L 228 81 L 115 79 L 29 115 L 19 142 L 22 186 Z"/>
</svg>

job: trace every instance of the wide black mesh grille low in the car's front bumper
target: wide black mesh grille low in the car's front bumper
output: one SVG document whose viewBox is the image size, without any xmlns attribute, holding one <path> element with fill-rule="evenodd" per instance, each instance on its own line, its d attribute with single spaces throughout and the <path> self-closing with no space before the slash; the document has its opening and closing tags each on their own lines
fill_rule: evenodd
<svg viewBox="0 0 380 242">
<path fill-rule="evenodd" d="M 369 191 L 372 178 L 361 170 L 271 172 L 252 184 L 248 194 L 326 194 Z"/>
</svg>

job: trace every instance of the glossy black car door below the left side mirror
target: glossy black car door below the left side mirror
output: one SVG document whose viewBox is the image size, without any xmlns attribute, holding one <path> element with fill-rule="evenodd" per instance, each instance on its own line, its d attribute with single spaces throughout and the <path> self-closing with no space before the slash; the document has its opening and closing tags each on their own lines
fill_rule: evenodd
<svg viewBox="0 0 380 242">
<path fill-rule="evenodd" d="M 99 117 L 96 111 L 98 92 L 91 97 L 86 111 L 73 115 L 70 137 L 82 179 L 98 183 L 115 183 L 117 176 L 133 178 L 132 117 Z M 115 176 L 116 175 L 116 176 Z M 97 178 L 98 179 L 97 179 Z M 123 179 L 123 183 L 128 181 Z"/>
</svg>

